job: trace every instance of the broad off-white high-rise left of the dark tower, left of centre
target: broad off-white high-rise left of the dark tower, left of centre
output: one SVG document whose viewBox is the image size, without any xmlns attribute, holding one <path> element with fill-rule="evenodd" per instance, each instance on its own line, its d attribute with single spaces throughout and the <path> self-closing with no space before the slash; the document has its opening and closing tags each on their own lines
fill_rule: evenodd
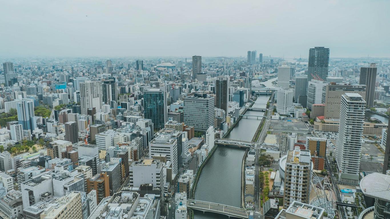
<svg viewBox="0 0 390 219">
<path fill-rule="evenodd" d="M 80 82 L 81 114 L 87 115 L 90 108 L 100 111 L 103 101 L 103 88 L 101 81 Z"/>
</svg>

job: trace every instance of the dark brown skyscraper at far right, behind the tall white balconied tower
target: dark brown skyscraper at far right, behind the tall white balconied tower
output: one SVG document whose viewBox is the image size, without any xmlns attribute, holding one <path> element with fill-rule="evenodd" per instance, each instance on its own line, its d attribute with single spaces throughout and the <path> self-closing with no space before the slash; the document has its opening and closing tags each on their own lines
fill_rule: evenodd
<svg viewBox="0 0 390 219">
<path fill-rule="evenodd" d="M 375 80 L 376 80 L 376 63 L 371 63 L 370 67 L 360 68 L 360 82 L 361 85 L 366 85 L 365 101 L 367 108 L 374 106 L 375 98 Z"/>
</svg>

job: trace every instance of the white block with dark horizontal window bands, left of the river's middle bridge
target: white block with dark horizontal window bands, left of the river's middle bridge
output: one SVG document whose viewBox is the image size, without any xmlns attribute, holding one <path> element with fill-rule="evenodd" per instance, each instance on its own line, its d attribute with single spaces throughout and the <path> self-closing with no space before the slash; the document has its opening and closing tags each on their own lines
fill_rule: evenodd
<svg viewBox="0 0 390 219">
<path fill-rule="evenodd" d="M 172 134 L 162 133 L 149 143 L 149 157 L 167 155 L 167 161 L 172 162 L 172 178 L 177 175 L 177 140 Z"/>
</svg>

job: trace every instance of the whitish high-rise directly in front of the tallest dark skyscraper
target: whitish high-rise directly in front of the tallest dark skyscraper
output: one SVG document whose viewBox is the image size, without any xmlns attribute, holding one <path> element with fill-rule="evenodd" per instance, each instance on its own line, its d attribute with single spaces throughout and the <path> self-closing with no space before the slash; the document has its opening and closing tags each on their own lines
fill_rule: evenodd
<svg viewBox="0 0 390 219">
<path fill-rule="evenodd" d="M 312 110 L 313 104 L 323 103 L 325 100 L 325 88 L 327 82 L 321 80 L 308 81 L 307 84 L 307 108 Z"/>
</svg>

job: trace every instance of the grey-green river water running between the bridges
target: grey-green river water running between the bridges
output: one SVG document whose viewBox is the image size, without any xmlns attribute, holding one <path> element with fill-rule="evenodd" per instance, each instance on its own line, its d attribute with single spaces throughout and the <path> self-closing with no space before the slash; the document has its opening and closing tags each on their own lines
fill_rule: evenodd
<svg viewBox="0 0 390 219">
<path fill-rule="evenodd" d="M 274 87 L 271 81 L 262 82 L 266 87 Z M 270 95 L 258 95 L 253 107 L 265 108 Z M 245 115 L 264 115 L 261 111 L 247 111 Z M 261 119 L 241 118 L 227 138 L 251 141 Z M 210 201 L 241 207 L 241 164 L 245 149 L 219 146 L 207 161 L 195 191 L 195 200 Z M 195 219 L 228 219 L 222 214 L 195 212 Z"/>
</svg>

